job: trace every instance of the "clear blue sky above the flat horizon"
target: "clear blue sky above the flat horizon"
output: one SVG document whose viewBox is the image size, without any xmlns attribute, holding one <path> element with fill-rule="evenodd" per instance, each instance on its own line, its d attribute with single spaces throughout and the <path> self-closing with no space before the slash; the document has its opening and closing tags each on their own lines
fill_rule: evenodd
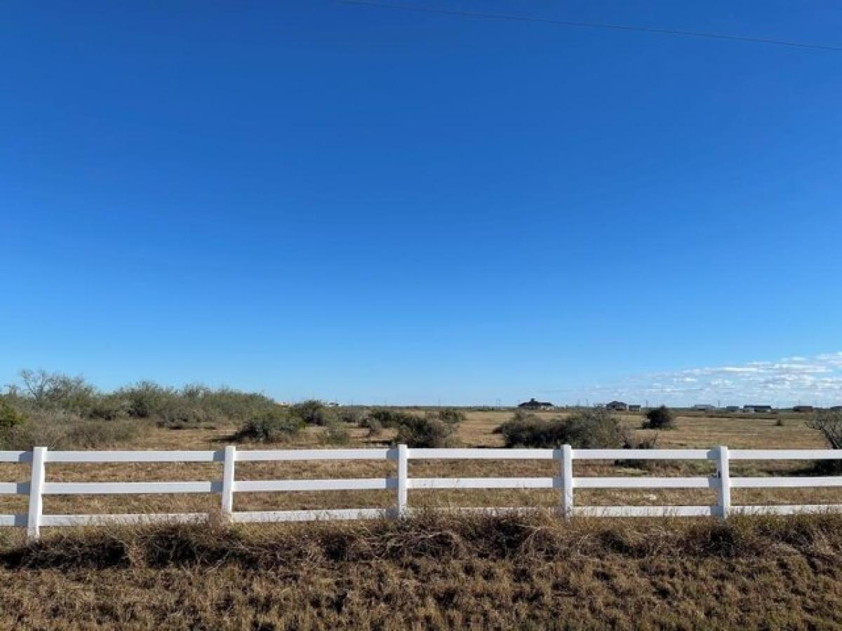
<svg viewBox="0 0 842 631">
<path fill-rule="evenodd" d="M 403 4 L 842 45 L 834 2 Z M 53 2 L 0 72 L 0 383 L 842 403 L 842 52 Z"/>
</svg>

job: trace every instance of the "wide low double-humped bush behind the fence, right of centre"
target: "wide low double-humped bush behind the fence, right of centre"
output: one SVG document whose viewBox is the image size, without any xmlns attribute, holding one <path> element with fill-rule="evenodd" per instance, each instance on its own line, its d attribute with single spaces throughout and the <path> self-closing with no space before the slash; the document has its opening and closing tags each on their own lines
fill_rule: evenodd
<svg viewBox="0 0 842 631">
<path fill-rule="evenodd" d="M 605 410 L 581 411 L 548 421 L 519 410 L 495 432 L 503 434 L 506 447 L 557 448 L 568 444 L 577 449 L 612 449 L 628 443 L 619 419 Z"/>
</svg>

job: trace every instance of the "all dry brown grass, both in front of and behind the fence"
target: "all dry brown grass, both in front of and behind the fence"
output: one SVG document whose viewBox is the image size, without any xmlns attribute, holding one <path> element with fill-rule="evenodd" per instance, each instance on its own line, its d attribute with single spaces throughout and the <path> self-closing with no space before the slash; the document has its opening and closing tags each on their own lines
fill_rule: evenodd
<svg viewBox="0 0 842 631">
<path fill-rule="evenodd" d="M 472 411 L 463 446 L 500 446 L 510 411 Z M 542 412 L 542 416 L 554 416 Z M 642 417 L 623 416 L 628 427 Z M 804 417 L 680 416 L 658 447 L 823 448 Z M 133 449 L 217 449 L 235 427 L 150 424 Z M 349 446 L 381 446 L 349 428 Z M 308 428 L 293 446 L 322 444 Z M 650 432 L 636 430 L 640 436 Z M 290 445 L 284 445 L 289 447 Z M 251 448 L 241 445 L 239 448 Z M 240 480 L 378 477 L 394 463 L 242 463 Z M 733 475 L 805 464 L 740 463 Z M 413 462 L 410 475 L 555 475 L 552 462 Z M 702 475 L 576 464 L 576 475 Z M 28 480 L 26 464 L 0 480 Z M 218 480 L 219 464 L 49 464 L 48 480 Z M 410 506 L 546 506 L 554 491 L 413 490 Z M 706 490 L 579 490 L 578 505 L 711 504 Z M 839 490 L 735 490 L 734 503 L 842 502 Z M 235 510 L 393 506 L 391 491 L 237 494 Z M 45 513 L 216 512 L 218 496 L 47 496 Z M 25 512 L 26 498 L 0 498 Z M 588 520 L 422 516 L 357 522 L 0 531 L 0 628 L 839 628 L 842 519 Z"/>
</svg>

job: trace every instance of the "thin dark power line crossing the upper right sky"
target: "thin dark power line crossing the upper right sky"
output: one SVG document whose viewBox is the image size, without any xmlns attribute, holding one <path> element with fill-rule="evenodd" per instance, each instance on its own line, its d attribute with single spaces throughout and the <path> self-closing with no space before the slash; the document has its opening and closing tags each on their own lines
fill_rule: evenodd
<svg viewBox="0 0 842 631">
<path fill-rule="evenodd" d="M 462 11 L 450 8 L 418 7 L 408 4 L 392 4 L 375 2 L 374 0 L 337 0 L 342 4 L 355 4 L 364 7 L 394 8 L 401 11 L 416 11 L 420 13 L 439 13 L 441 15 L 454 15 L 459 18 L 484 18 L 501 19 L 512 22 L 537 22 L 540 24 L 554 24 L 556 26 L 568 26 L 580 29 L 607 29 L 635 31 L 637 33 L 655 33 L 662 35 L 682 35 L 685 37 L 700 37 L 708 40 L 732 40 L 749 42 L 750 44 L 767 44 L 775 46 L 790 46 L 792 48 L 810 48 L 813 50 L 834 50 L 842 52 L 842 46 L 829 46 L 822 44 L 807 44 L 804 42 L 787 40 L 770 40 L 764 37 L 745 37 L 743 35 L 729 35 L 723 33 L 706 33 L 704 31 L 680 30 L 680 29 L 658 29 L 653 26 L 631 26 L 628 24 L 607 24 L 602 22 L 573 22 L 570 20 L 539 18 L 530 15 L 512 15 L 509 13 L 482 13 L 479 11 Z"/>
</svg>

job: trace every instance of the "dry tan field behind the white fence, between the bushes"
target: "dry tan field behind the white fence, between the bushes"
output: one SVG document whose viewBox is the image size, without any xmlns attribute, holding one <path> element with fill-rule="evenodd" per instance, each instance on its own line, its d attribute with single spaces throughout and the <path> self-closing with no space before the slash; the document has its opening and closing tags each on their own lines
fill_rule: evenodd
<svg viewBox="0 0 842 631">
<path fill-rule="evenodd" d="M 552 417 L 555 412 L 541 412 Z M 457 443 L 466 447 L 499 447 L 502 438 L 493 433 L 511 411 L 470 411 L 461 424 Z M 628 427 L 639 427 L 642 416 L 622 417 Z M 776 418 L 756 416 L 713 417 L 681 416 L 674 430 L 658 432 L 658 447 L 710 448 L 725 444 L 731 448 L 823 448 L 822 437 L 804 426 L 803 415 Z M 214 428 L 168 429 L 149 425 L 138 437 L 117 445 L 129 449 L 218 449 L 235 430 L 225 424 Z M 388 444 L 393 431 L 385 430 L 376 438 L 367 437 L 364 428 L 350 427 L 349 447 L 373 447 Z M 651 431 L 636 430 L 640 436 Z M 318 447 L 322 429 L 310 427 L 285 447 Z M 240 448 L 251 448 L 243 444 Z M 279 480 L 295 478 L 365 478 L 393 475 L 393 462 L 328 461 L 296 463 L 239 463 L 238 480 Z M 549 461 L 413 461 L 413 476 L 552 476 L 556 464 Z M 647 464 L 646 469 L 618 467 L 611 463 L 578 462 L 575 475 L 706 475 L 713 471 L 712 462 Z M 766 461 L 735 463 L 732 475 L 773 475 L 793 472 L 804 463 Z M 220 480 L 221 464 L 49 464 L 51 481 L 151 481 L 151 480 Z M 26 481 L 29 465 L 0 464 L 0 480 Z M 412 490 L 413 507 L 453 506 L 558 506 L 554 490 Z M 577 490 L 579 505 L 708 505 L 715 503 L 713 490 Z M 840 503 L 839 489 L 738 489 L 733 491 L 734 504 Z M 390 507 L 394 493 L 387 490 L 366 491 L 296 491 L 237 493 L 235 510 L 282 510 L 317 508 Z M 25 512 L 24 496 L 0 497 L 0 512 Z M 212 512 L 219 507 L 216 495 L 148 495 L 148 496 L 46 496 L 44 511 L 56 513 L 92 512 Z M 0 537 L 22 536 L 19 530 L 0 531 Z"/>
</svg>

